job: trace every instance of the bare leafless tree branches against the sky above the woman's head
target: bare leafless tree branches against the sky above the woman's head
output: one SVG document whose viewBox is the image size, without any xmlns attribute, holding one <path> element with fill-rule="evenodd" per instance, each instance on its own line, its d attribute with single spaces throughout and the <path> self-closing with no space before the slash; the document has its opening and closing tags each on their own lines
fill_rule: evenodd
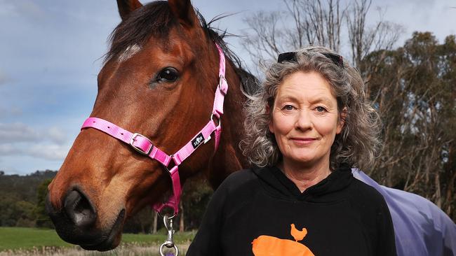
<svg viewBox="0 0 456 256">
<path fill-rule="evenodd" d="M 245 21 L 250 27 L 243 47 L 257 66 L 266 66 L 281 52 L 297 50 L 304 45 L 323 45 L 340 52 L 343 39 L 347 52 L 358 66 L 373 50 L 390 50 L 403 33 L 403 28 L 383 20 L 382 9 L 373 27 L 366 18 L 371 0 L 351 1 L 342 6 L 339 0 L 283 0 L 286 11 L 257 12 Z M 348 34 L 343 38 L 342 34 Z"/>
</svg>

